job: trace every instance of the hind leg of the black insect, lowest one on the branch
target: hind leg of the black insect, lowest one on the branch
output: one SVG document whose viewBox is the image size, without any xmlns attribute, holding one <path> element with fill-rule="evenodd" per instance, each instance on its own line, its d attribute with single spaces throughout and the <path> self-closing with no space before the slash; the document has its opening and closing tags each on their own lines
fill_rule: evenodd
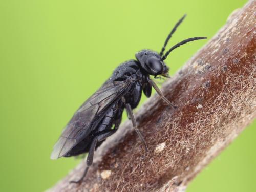
<svg viewBox="0 0 256 192">
<path fill-rule="evenodd" d="M 113 133 L 115 133 L 116 130 L 110 130 L 108 132 L 105 132 L 105 133 L 102 133 L 100 135 L 97 135 L 94 139 L 93 139 L 93 142 L 90 146 L 90 149 L 89 149 L 89 152 L 88 152 L 88 156 L 87 156 L 87 159 L 86 159 L 86 162 L 87 162 L 87 167 L 86 169 L 84 170 L 83 174 L 82 174 L 82 177 L 77 180 L 77 181 L 70 181 L 70 183 L 81 183 L 81 181 L 83 180 L 84 177 L 86 177 L 86 174 L 88 172 L 88 169 L 89 167 L 92 165 L 93 163 L 93 155 L 94 155 L 94 151 L 95 151 L 95 147 L 96 147 L 96 144 L 97 142 L 100 142 L 100 141 L 103 141 L 105 140 L 107 137 L 111 136 Z"/>
</svg>

